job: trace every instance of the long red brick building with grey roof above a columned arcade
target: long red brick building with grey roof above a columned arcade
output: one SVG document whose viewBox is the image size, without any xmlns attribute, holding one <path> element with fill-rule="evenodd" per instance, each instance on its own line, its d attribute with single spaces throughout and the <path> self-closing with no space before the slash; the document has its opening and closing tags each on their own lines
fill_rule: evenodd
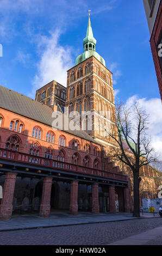
<svg viewBox="0 0 162 256">
<path fill-rule="evenodd" d="M 127 175 L 102 169 L 101 144 L 86 132 L 53 129 L 52 113 L 0 86 L 0 218 L 27 211 L 47 217 L 51 209 L 115 212 L 116 200 L 129 211 Z"/>
</svg>

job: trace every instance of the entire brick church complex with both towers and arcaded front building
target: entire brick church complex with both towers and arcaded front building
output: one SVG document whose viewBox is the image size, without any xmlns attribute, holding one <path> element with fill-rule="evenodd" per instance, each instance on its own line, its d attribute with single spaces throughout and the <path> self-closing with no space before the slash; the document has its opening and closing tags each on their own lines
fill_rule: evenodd
<svg viewBox="0 0 162 256">
<path fill-rule="evenodd" d="M 106 157 L 114 142 L 103 134 L 99 112 L 109 126 L 113 78 L 96 52 L 90 16 L 83 43 L 84 52 L 67 71 L 67 87 L 53 80 L 33 100 L 0 86 L 1 219 L 22 212 L 48 217 L 54 210 L 132 210 L 129 176 Z M 53 129 L 56 111 L 64 119 L 59 129 Z M 65 127 L 67 115 L 80 129 Z"/>
</svg>

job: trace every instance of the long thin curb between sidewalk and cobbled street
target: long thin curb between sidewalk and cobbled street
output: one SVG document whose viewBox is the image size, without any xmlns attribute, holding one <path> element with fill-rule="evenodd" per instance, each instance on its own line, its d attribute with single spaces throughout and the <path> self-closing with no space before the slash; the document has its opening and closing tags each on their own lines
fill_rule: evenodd
<svg viewBox="0 0 162 256">
<path fill-rule="evenodd" d="M 1 229 L 0 232 L 5 231 L 17 231 L 17 230 L 27 230 L 27 229 L 40 229 L 40 228 L 54 228 L 54 227 L 66 227 L 72 225 L 87 225 L 87 224 L 97 224 L 97 223 L 108 223 L 108 222 L 120 222 L 120 221 L 132 221 L 132 220 L 144 220 L 148 218 L 160 218 L 160 217 L 135 217 L 135 218 L 128 218 L 126 220 L 114 220 L 114 221 L 97 221 L 97 222 L 86 222 L 86 223 L 74 223 L 74 224 L 58 224 L 58 225 L 46 225 L 46 226 L 37 226 L 37 227 L 29 227 L 29 228 L 14 228 L 14 229 Z"/>
</svg>

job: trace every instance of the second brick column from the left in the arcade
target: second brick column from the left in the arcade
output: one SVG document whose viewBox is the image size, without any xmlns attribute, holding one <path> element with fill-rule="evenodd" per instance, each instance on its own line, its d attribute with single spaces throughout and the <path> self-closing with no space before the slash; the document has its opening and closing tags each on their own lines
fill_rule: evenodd
<svg viewBox="0 0 162 256">
<path fill-rule="evenodd" d="M 40 205 L 39 215 L 41 217 L 49 217 L 51 205 L 51 188 L 52 188 L 52 178 L 45 177 L 43 181 L 43 191 L 42 200 Z"/>
</svg>

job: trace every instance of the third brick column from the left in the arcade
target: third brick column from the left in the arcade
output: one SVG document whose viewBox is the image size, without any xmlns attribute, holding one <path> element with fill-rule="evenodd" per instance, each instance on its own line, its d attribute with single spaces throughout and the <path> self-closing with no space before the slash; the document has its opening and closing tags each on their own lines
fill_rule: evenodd
<svg viewBox="0 0 162 256">
<path fill-rule="evenodd" d="M 78 214 L 78 181 L 71 181 L 71 195 L 70 195 L 70 213 Z"/>
</svg>

